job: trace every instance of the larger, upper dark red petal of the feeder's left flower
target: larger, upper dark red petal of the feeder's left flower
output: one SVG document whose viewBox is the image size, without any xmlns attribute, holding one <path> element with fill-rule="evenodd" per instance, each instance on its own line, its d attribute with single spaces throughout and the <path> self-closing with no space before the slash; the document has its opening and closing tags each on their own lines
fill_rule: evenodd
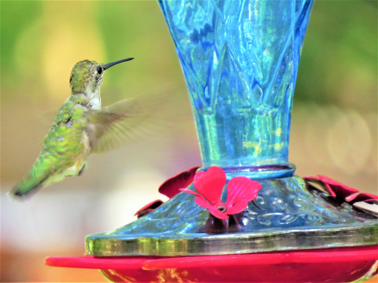
<svg viewBox="0 0 378 283">
<path fill-rule="evenodd" d="M 198 168 L 200 167 L 195 166 L 168 178 L 163 184 L 160 185 L 160 194 L 166 195 L 169 198 L 177 195 L 181 188 L 186 188 L 193 182 L 195 172 Z"/>
</svg>

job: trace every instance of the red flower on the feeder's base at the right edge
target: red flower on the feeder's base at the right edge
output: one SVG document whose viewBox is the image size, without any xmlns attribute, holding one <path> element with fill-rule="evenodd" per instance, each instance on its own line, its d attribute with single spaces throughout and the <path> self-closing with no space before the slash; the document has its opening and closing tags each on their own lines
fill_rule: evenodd
<svg viewBox="0 0 378 283">
<path fill-rule="evenodd" d="M 305 181 L 315 182 L 323 186 L 332 197 L 341 198 L 349 204 L 358 201 L 365 201 L 367 203 L 378 203 L 378 196 L 368 193 L 360 193 L 357 189 L 351 188 L 343 183 L 340 183 L 332 178 L 322 175 L 303 177 Z"/>
</svg>

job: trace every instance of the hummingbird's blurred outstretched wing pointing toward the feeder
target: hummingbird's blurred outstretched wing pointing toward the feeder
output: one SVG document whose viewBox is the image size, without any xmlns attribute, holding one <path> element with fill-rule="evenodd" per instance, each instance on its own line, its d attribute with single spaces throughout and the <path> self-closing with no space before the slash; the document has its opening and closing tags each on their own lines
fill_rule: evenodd
<svg viewBox="0 0 378 283">
<path fill-rule="evenodd" d="M 116 149 L 156 128 L 164 117 L 169 95 L 143 95 L 116 102 L 88 116 L 89 142 L 93 152 Z"/>
</svg>

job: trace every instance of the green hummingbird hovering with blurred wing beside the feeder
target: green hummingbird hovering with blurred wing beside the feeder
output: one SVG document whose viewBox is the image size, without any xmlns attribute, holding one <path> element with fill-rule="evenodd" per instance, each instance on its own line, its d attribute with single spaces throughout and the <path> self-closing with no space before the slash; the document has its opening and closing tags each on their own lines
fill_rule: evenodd
<svg viewBox="0 0 378 283">
<path fill-rule="evenodd" d="M 9 195 L 23 197 L 64 177 L 79 176 L 92 152 L 108 151 L 131 138 L 133 129 L 150 115 L 144 107 L 150 99 L 125 99 L 101 108 L 100 88 L 108 68 L 132 59 L 108 64 L 83 60 L 73 66 L 71 96 L 60 107 L 32 168 Z"/>
</svg>

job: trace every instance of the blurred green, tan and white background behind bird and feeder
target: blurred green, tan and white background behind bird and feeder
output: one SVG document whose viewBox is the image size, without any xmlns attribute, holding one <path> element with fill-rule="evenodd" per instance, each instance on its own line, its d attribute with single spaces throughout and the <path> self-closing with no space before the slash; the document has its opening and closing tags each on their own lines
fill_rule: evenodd
<svg viewBox="0 0 378 283">
<path fill-rule="evenodd" d="M 323 174 L 377 191 L 377 1 L 316 1 L 294 94 L 289 160 L 298 175 Z M 93 270 L 48 268 L 48 255 L 84 254 L 84 237 L 134 219 L 161 198 L 167 177 L 201 158 L 173 42 L 155 1 L 1 1 L 1 280 L 105 281 Z M 40 151 L 54 111 L 70 95 L 72 66 L 108 63 L 102 105 L 176 89 L 174 127 L 93 155 L 24 203 L 4 197 Z M 169 117 L 168 117 L 169 119 Z M 168 125 L 167 123 L 167 125 Z"/>
</svg>

